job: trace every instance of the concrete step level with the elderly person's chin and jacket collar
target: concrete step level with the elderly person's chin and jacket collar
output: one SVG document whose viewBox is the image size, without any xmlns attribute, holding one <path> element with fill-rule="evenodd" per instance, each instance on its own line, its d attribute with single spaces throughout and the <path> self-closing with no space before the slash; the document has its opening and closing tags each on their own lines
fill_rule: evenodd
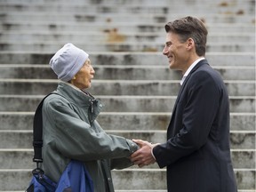
<svg viewBox="0 0 256 192">
<path fill-rule="evenodd" d="M 46 95 L 56 89 L 57 80 L 0 79 L 1 94 Z M 255 81 L 225 81 L 229 96 L 254 96 Z M 92 80 L 93 95 L 176 96 L 180 80 Z"/>
</svg>

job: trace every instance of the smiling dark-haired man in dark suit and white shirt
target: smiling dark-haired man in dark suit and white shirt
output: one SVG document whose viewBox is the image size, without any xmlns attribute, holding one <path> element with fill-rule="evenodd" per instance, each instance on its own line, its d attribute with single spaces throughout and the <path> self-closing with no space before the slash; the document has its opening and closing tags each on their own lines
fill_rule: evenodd
<svg viewBox="0 0 256 192">
<path fill-rule="evenodd" d="M 219 73 L 204 59 L 207 29 L 194 17 L 165 25 L 164 55 L 183 78 L 167 141 L 134 140 L 132 162 L 167 167 L 170 192 L 236 192 L 229 147 L 229 101 Z"/>
</svg>

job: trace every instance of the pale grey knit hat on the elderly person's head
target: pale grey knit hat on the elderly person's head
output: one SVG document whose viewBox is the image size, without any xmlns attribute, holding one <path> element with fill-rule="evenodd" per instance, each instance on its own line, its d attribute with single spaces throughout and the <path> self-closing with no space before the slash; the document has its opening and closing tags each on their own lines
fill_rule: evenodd
<svg viewBox="0 0 256 192">
<path fill-rule="evenodd" d="M 58 78 L 68 82 L 84 66 L 89 54 L 74 44 L 65 44 L 50 60 L 50 66 Z"/>
</svg>

